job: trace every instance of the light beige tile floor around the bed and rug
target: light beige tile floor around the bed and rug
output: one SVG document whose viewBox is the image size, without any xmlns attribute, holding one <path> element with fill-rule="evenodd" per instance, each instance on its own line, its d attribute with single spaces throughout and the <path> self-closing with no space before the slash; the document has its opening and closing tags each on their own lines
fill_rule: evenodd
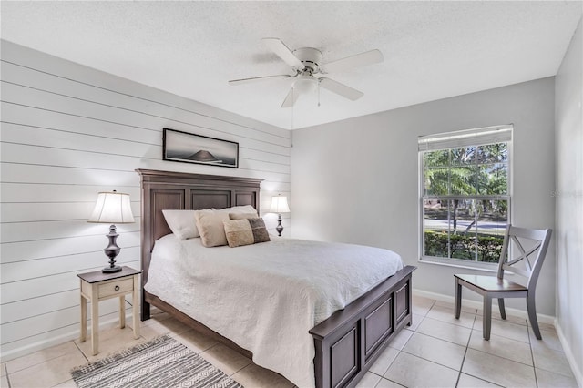
<svg viewBox="0 0 583 388">
<path fill-rule="evenodd" d="M 552 325 L 541 325 L 543 340 L 538 341 L 527 320 L 494 318 L 490 341 L 484 341 L 481 311 L 464 307 L 455 320 L 452 304 L 414 297 L 413 324 L 394 338 L 357 387 L 577 387 Z M 3 363 L 2 388 L 74 387 L 71 368 L 164 333 L 247 388 L 293 387 L 281 375 L 153 310 L 138 340 L 130 327 L 100 332 L 97 356 L 90 355 L 90 341 L 76 340 Z"/>
</svg>

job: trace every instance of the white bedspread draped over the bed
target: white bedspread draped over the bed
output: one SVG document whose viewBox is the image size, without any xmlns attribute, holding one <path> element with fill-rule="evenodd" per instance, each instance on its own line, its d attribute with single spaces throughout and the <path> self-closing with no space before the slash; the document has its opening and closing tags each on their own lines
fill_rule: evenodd
<svg viewBox="0 0 583 388">
<path fill-rule="evenodd" d="M 272 238 L 204 248 L 173 234 L 156 241 L 146 290 L 253 353 L 299 387 L 314 386 L 308 332 L 403 268 L 391 250 Z"/>
</svg>

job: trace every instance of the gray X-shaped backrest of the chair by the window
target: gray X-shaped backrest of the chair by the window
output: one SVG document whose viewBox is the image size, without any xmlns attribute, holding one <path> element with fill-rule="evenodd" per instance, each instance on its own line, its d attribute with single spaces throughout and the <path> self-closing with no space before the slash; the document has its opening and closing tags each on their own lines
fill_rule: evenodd
<svg viewBox="0 0 583 388">
<path fill-rule="evenodd" d="M 528 289 L 536 285 L 538 274 L 547 255 L 552 231 L 550 229 L 526 229 L 508 225 L 498 262 L 498 278 L 502 279 L 504 271 L 508 270 L 526 277 Z M 514 253 L 512 258 L 510 257 L 511 250 Z M 521 264 L 523 268 L 517 264 Z"/>
</svg>

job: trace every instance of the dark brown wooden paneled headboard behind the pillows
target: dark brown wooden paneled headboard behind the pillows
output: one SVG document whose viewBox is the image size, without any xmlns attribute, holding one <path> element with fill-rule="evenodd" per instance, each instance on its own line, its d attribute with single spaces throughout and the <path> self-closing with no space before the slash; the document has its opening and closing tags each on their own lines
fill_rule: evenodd
<svg viewBox="0 0 583 388">
<path fill-rule="evenodd" d="M 162 209 L 223 209 L 251 205 L 259 212 L 261 181 L 184 172 L 137 169 L 141 177 L 142 289 L 148 281 L 154 241 L 171 233 Z"/>
</svg>

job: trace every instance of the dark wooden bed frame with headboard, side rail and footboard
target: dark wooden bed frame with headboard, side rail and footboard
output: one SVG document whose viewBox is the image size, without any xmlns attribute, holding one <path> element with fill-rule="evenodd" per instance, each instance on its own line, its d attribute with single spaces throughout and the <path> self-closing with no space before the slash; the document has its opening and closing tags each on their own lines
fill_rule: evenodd
<svg viewBox="0 0 583 388">
<path fill-rule="evenodd" d="M 176 307 L 176 305 L 180 306 L 179 303 L 170 304 L 166 296 L 160 298 L 159 295 L 148 292 L 145 286 L 148 284 L 155 241 L 159 240 L 159 246 L 161 246 L 161 241 L 171 233 L 162 215 L 162 209 L 223 209 L 251 205 L 259 210 L 262 179 L 146 169 L 137 171 L 141 177 L 142 193 L 142 321 L 149 319 L 150 306 L 154 305 L 163 311 L 168 311 L 199 332 L 204 332 L 230 348 L 253 358 L 250 350 L 210 330 L 209 327 L 196 320 L 196 318 L 200 320 L 200 317 L 190 316 L 186 311 L 182 311 L 185 309 Z M 166 238 L 166 240 L 169 239 Z M 273 244 L 282 244 L 283 241 L 278 240 Z M 220 252 L 220 250 L 208 250 Z M 240 248 L 234 250 L 240 250 Z M 152 268 L 154 271 L 160 271 L 156 270 L 160 268 L 156 265 L 152 265 Z M 302 380 L 302 386 L 315 384 L 317 387 L 336 387 L 354 386 L 358 383 L 394 335 L 405 325 L 411 324 L 413 271 L 414 267 L 405 266 L 387 279 L 375 283 L 370 291 L 350 302 L 343 310 L 333 312 L 330 317 L 306 329 L 313 338 L 314 357 L 313 360 L 308 360 L 313 366 L 313 379 L 312 383 L 305 383 L 306 380 Z M 151 276 L 154 279 L 154 274 Z M 162 294 L 162 292 L 159 293 Z M 283 335 L 277 338 L 274 334 L 273 337 L 273 342 L 283 341 Z M 237 342 L 243 343 L 240 339 Z M 277 366 L 270 369 L 281 372 Z"/>
</svg>

